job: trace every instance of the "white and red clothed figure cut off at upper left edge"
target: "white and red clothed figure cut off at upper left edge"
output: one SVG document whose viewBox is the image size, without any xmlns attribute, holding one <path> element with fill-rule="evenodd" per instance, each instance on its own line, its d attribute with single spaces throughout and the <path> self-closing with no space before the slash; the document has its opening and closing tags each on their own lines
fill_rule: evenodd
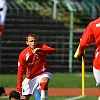
<svg viewBox="0 0 100 100">
<path fill-rule="evenodd" d="M 5 23 L 6 13 L 7 13 L 6 0 L 0 0 L 0 36 L 3 33 L 3 26 Z"/>
</svg>

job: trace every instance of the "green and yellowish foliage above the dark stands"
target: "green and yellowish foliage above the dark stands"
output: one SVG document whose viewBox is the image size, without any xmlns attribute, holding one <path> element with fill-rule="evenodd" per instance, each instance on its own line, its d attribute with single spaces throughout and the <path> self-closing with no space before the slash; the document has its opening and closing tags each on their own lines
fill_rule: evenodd
<svg viewBox="0 0 100 100">
<path fill-rule="evenodd" d="M 53 18 L 54 3 L 51 0 L 14 0 L 16 3 L 25 4 L 26 9 L 36 10 L 41 16 L 49 16 Z M 74 12 L 74 25 L 80 26 L 88 23 L 91 20 L 90 15 L 87 12 L 79 11 L 75 5 L 73 8 L 77 9 Z M 70 26 L 70 11 L 68 10 L 66 4 L 59 2 L 57 4 L 56 20 L 63 21 L 65 26 Z"/>
</svg>

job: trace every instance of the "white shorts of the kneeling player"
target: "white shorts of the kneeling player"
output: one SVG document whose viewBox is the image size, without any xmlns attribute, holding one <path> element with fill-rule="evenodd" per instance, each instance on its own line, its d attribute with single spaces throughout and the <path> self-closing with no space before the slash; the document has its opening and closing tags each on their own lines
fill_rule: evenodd
<svg viewBox="0 0 100 100">
<path fill-rule="evenodd" d="M 22 83 L 22 95 L 33 95 L 36 88 L 40 85 L 40 81 L 43 77 L 48 77 L 49 79 L 51 79 L 52 74 L 50 72 L 45 72 L 33 79 L 25 78 Z"/>
</svg>

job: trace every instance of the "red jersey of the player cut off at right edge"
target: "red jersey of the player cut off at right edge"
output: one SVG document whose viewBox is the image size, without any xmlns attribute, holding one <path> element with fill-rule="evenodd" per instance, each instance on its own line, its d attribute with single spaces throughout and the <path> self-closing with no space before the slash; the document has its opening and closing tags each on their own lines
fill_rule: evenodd
<svg viewBox="0 0 100 100">
<path fill-rule="evenodd" d="M 92 41 L 95 42 L 95 50 L 96 52 L 98 52 L 93 57 L 93 66 L 96 69 L 100 69 L 100 17 L 90 22 L 85 29 L 80 39 L 80 48 L 78 55 L 83 55 L 84 50 L 92 43 Z"/>
</svg>

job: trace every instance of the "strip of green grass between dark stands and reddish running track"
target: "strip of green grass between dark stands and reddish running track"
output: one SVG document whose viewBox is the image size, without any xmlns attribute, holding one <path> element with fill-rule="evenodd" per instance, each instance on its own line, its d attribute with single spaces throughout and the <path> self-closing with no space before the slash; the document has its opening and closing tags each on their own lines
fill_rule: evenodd
<svg viewBox="0 0 100 100">
<path fill-rule="evenodd" d="M 81 88 L 81 73 L 53 73 L 49 88 Z M 16 74 L 0 74 L 1 87 L 16 87 Z M 73 85 L 74 84 L 74 85 Z M 85 74 L 85 87 L 96 88 L 95 79 L 92 73 Z"/>
</svg>

